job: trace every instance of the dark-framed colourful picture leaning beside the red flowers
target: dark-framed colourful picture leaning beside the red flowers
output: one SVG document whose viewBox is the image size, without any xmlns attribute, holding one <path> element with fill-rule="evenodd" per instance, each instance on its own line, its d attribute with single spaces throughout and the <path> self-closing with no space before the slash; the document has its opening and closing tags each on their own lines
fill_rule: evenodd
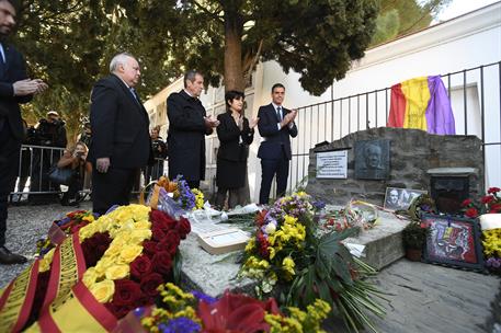
<svg viewBox="0 0 501 333">
<path fill-rule="evenodd" d="M 478 219 L 423 214 L 430 228 L 424 261 L 470 269 L 483 269 Z"/>
</svg>

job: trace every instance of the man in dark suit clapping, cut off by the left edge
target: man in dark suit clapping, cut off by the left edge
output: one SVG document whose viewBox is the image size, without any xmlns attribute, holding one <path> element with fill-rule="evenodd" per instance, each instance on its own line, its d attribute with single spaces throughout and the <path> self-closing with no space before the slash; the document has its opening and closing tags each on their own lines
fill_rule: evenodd
<svg viewBox="0 0 501 333">
<path fill-rule="evenodd" d="M 0 264 L 4 265 L 26 262 L 5 248 L 8 197 L 14 190 L 24 137 L 19 104 L 47 89 L 42 80 L 27 78 L 23 56 L 7 43 L 18 8 L 16 1 L 0 0 Z"/>
</svg>

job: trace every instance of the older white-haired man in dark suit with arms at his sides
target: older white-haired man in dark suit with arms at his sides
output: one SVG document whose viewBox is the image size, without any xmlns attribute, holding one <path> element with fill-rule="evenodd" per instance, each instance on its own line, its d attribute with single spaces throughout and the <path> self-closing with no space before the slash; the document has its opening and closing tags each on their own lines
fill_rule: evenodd
<svg viewBox="0 0 501 333">
<path fill-rule="evenodd" d="M 139 82 L 137 60 L 127 53 L 110 64 L 111 76 L 98 81 L 91 94 L 93 211 L 128 205 L 140 168 L 152 160 L 149 118 L 134 87 Z"/>
</svg>

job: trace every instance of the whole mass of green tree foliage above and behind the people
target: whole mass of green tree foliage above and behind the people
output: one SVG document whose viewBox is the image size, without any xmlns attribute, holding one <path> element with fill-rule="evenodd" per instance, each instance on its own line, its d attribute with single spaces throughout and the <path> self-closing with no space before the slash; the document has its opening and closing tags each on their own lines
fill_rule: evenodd
<svg viewBox="0 0 501 333">
<path fill-rule="evenodd" d="M 375 30 L 376 0 L 58 0 L 24 1 L 15 44 L 31 77 L 50 87 L 30 112 L 57 110 L 67 122 L 88 114 L 92 84 L 122 50 L 141 64 L 149 96 L 184 70 L 207 84 L 243 89 L 259 60 L 276 60 L 321 94 L 361 58 Z M 73 129 L 70 129 L 71 133 Z M 76 134 L 73 134 L 76 136 Z"/>
</svg>

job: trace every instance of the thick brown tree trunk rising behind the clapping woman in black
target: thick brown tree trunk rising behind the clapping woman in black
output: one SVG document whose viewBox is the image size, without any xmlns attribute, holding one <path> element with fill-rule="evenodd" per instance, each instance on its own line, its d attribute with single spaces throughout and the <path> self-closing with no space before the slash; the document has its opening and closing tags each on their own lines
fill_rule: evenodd
<svg viewBox="0 0 501 333">
<path fill-rule="evenodd" d="M 242 68 L 242 32 L 243 20 L 239 13 L 239 1 L 230 2 L 225 8 L 225 91 L 237 90 L 243 92 L 246 82 Z M 244 111 L 242 112 L 244 114 Z M 249 177 L 246 168 L 246 186 L 242 190 L 246 203 L 250 202 Z"/>
</svg>

